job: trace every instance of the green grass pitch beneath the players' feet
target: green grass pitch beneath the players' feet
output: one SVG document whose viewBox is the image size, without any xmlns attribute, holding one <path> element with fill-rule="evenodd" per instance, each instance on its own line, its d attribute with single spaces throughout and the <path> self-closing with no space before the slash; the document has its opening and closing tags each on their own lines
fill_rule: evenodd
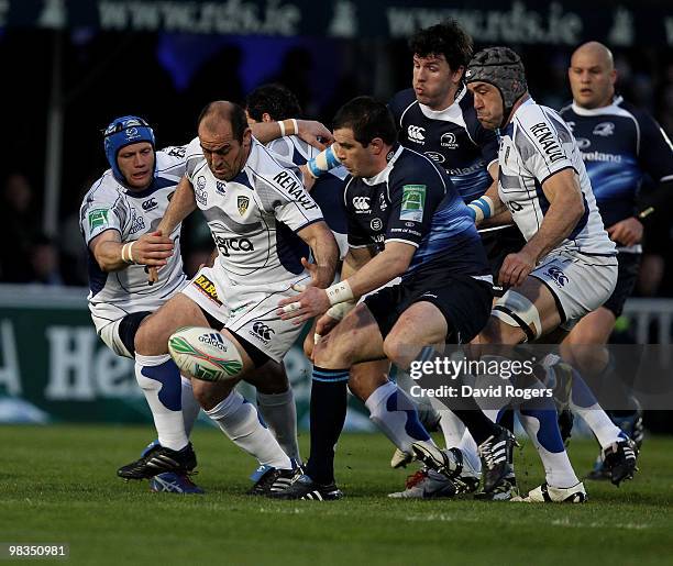
<svg viewBox="0 0 673 566">
<path fill-rule="evenodd" d="M 382 435 L 365 434 L 340 442 L 342 501 L 252 498 L 243 493 L 254 462 L 207 428 L 194 434 L 196 480 L 207 495 L 152 493 L 146 481 L 115 477 L 152 435 L 148 428 L 0 426 L 0 543 L 67 543 L 65 562 L 87 565 L 673 563 L 673 439 L 647 440 L 635 481 L 587 482 L 584 506 L 529 506 L 393 501 L 386 495 L 406 474 L 389 468 L 393 450 Z M 301 441 L 307 452 L 307 434 Z M 573 441 L 578 473 L 595 453 L 593 442 Z M 529 442 L 516 464 L 525 488 L 541 482 Z"/>
</svg>

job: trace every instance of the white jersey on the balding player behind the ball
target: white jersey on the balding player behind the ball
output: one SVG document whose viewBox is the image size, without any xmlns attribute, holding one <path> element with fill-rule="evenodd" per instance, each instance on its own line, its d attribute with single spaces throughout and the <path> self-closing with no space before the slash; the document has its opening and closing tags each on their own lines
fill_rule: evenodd
<svg viewBox="0 0 673 566">
<path fill-rule="evenodd" d="M 220 180 L 197 137 L 187 146 L 186 176 L 219 251 L 214 267 L 233 284 L 264 285 L 304 274 L 301 257 L 309 257 L 309 247 L 296 232 L 323 219 L 293 163 L 253 138 L 241 173 Z"/>
</svg>

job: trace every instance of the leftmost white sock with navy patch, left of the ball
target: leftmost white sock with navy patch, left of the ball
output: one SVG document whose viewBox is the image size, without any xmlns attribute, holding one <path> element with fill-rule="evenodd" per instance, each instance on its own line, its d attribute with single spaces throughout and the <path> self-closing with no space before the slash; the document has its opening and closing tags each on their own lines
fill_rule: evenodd
<svg viewBox="0 0 673 566">
<path fill-rule="evenodd" d="M 135 379 L 152 411 L 159 444 L 181 450 L 189 443 L 181 411 L 180 373 L 168 354 L 135 355 Z"/>
</svg>

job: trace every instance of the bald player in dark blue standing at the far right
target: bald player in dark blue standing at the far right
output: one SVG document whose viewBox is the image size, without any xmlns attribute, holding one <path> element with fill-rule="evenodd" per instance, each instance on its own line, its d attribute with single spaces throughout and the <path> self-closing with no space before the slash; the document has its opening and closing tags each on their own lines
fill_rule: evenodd
<svg viewBox="0 0 673 566">
<path fill-rule="evenodd" d="M 620 387 L 608 352 L 592 346 L 607 343 L 633 290 L 642 254 L 643 223 L 665 211 L 671 201 L 673 147 L 650 114 L 615 93 L 617 71 L 613 54 L 605 45 L 589 42 L 580 46 L 573 53 L 567 76 L 573 102 L 561 109 L 560 114 L 577 138 L 596 204 L 617 244 L 619 267 L 613 295 L 573 328 L 566 341 L 570 347 L 563 348 L 563 355 L 583 374 L 608 376 L 611 387 Z M 648 195 L 640 193 L 644 176 L 658 184 Z M 624 404 L 608 414 L 640 448 L 641 411 L 638 400 L 624 392 Z M 603 454 L 588 477 L 611 477 Z"/>
</svg>

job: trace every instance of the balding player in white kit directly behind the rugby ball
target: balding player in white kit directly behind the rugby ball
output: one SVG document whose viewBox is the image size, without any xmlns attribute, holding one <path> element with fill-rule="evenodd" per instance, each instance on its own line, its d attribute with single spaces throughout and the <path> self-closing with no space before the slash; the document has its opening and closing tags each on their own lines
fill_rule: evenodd
<svg viewBox="0 0 673 566">
<path fill-rule="evenodd" d="M 243 109 L 211 102 L 199 116 L 198 134 L 187 146 L 185 177 L 158 229 L 169 233 L 198 207 L 218 257 L 146 320 L 135 347 L 147 358 L 167 359 L 167 341 L 177 329 L 211 326 L 218 342 L 242 365 L 236 378 L 254 381 L 255 368 L 269 359 L 279 363 L 299 332 L 275 315 L 277 299 L 293 293 L 298 282 L 327 287 L 334 275 L 336 244 L 294 165 L 279 160 L 252 136 Z M 306 259 L 309 246 L 316 264 Z M 265 378 L 263 374 L 257 380 Z M 195 397 L 225 434 L 222 423 L 228 414 L 247 404 L 232 397 L 235 384 L 236 379 L 192 380 Z M 251 426 L 256 418 L 254 411 L 249 413 L 242 425 Z M 250 441 L 256 454 L 274 448 L 261 437 Z M 291 475 L 293 463 L 282 452 L 265 459 L 271 466 L 260 478 L 265 487 Z M 148 464 L 139 460 L 140 468 Z"/>
</svg>

